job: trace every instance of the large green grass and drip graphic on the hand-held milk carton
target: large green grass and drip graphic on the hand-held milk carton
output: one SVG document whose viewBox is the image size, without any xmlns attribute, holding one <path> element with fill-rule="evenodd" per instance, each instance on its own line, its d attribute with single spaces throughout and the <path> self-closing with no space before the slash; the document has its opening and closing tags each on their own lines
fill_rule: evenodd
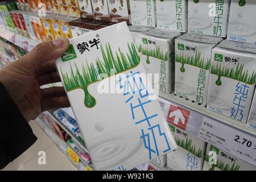
<svg viewBox="0 0 256 182">
<path fill-rule="evenodd" d="M 102 79 L 100 74 L 110 76 L 110 71 L 114 69 L 115 74 L 131 69 L 139 64 L 140 57 L 133 43 L 127 44 L 129 53 L 125 54 L 118 48 L 118 52 L 113 54 L 110 44 L 106 44 L 106 48 L 101 45 L 101 54 L 103 61 L 100 58 L 96 58 L 96 65 L 93 63 L 84 65 L 82 63 L 82 72 L 77 68 L 77 64 L 74 63 L 75 69 L 70 64 L 70 75 L 67 72 L 63 73 L 61 70 L 61 76 L 63 78 L 64 86 L 67 92 L 77 88 L 81 88 L 85 92 L 84 104 L 86 107 L 93 107 L 96 105 L 96 100 L 88 92 L 88 85 Z"/>
</svg>

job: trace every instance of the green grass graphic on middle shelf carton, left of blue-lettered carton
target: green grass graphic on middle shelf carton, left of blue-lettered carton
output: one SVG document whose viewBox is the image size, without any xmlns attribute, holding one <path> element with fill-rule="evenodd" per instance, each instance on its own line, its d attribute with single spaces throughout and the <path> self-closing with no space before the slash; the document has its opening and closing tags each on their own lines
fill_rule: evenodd
<svg viewBox="0 0 256 182">
<path fill-rule="evenodd" d="M 196 52 L 194 56 L 184 56 L 184 53 L 180 53 L 175 55 L 175 61 L 178 63 L 181 63 L 181 72 L 185 72 L 184 65 L 190 64 L 195 67 L 199 67 L 202 69 L 208 70 L 210 68 L 210 59 L 207 59 L 207 61 L 204 60 L 204 57 L 201 57 L 200 52 Z"/>
</svg>

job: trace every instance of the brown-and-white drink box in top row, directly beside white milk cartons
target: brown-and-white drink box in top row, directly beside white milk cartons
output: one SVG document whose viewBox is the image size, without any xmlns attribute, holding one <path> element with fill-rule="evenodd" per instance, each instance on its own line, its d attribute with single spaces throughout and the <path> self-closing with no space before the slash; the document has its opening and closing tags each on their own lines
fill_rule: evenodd
<svg viewBox="0 0 256 182">
<path fill-rule="evenodd" d="M 126 21 L 127 24 L 131 24 L 130 21 L 130 6 L 129 6 L 129 0 L 126 1 L 113 1 L 108 0 L 109 5 L 109 14 L 111 22 L 123 22 Z"/>
</svg>

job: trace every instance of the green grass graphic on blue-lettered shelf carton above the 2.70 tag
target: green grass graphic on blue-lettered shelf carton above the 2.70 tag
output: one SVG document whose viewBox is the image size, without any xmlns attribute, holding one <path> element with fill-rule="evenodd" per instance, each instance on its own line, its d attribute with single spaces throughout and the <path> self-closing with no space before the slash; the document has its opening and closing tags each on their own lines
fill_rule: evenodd
<svg viewBox="0 0 256 182">
<path fill-rule="evenodd" d="M 256 80 L 256 73 L 253 72 L 251 75 L 248 73 L 248 69 L 245 71 L 243 69 L 243 64 L 237 64 L 236 68 L 228 68 L 227 66 L 222 67 L 221 63 L 217 65 L 212 65 L 210 68 L 210 73 L 217 75 L 216 85 L 221 85 L 221 77 L 228 77 L 238 81 L 245 82 L 246 84 L 254 84 Z"/>
</svg>

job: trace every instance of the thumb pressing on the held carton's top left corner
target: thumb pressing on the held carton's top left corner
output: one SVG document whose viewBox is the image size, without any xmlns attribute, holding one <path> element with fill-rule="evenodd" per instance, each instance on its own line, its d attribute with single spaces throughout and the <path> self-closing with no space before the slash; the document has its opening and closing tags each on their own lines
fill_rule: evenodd
<svg viewBox="0 0 256 182">
<path fill-rule="evenodd" d="M 57 59 L 62 56 L 69 47 L 67 38 L 61 37 L 49 42 L 39 43 L 21 59 L 17 60 L 18 64 L 22 64 L 28 71 L 35 72 L 39 65 L 49 60 Z"/>
</svg>

